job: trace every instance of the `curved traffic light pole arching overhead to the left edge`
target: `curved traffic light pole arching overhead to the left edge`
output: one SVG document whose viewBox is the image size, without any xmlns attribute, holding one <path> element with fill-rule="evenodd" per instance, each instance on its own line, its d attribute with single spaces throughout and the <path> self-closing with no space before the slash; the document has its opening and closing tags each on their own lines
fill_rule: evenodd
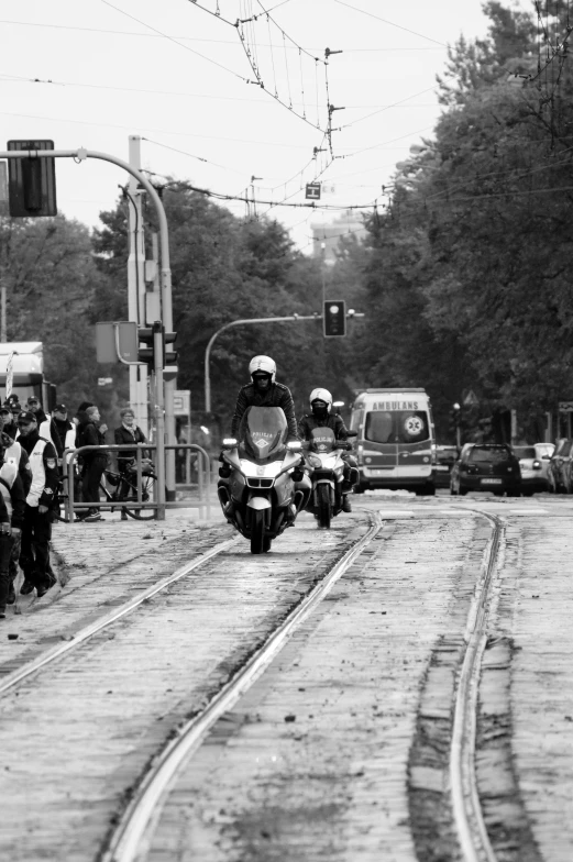
<svg viewBox="0 0 573 862">
<path fill-rule="evenodd" d="M 112 156 L 109 153 L 100 153 L 93 150 L 85 150 L 80 147 L 79 150 L 10 150 L 0 152 L 0 158 L 74 158 L 76 162 L 85 162 L 87 158 L 97 158 L 101 162 L 111 162 L 112 165 L 118 165 L 118 167 L 123 168 L 134 177 L 141 186 L 145 189 L 148 194 L 157 213 L 157 221 L 159 225 L 159 248 L 161 248 L 161 292 L 162 292 L 162 322 L 165 327 L 167 332 L 173 331 L 173 307 L 172 307 L 172 270 L 169 264 L 169 234 L 167 228 L 167 217 L 165 216 L 165 210 L 163 208 L 163 203 L 157 195 L 157 191 L 150 183 L 147 177 L 137 170 L 133 165 L 130 165 L 129 162 L 124 162 L 122 158 L 118 158 L 117 156 Z M 173 391 L 175 388 L 175 382 L 172 380 L 165 387 L 166 398 L 165 402 L 163 399 L 164 395 L 164 387 L 163 387 L 163 373 L 161 376 L 161 389 L 162 389 L 162 402 L 164 402 L 164 407 L 166 405 L 166 416 L 164 424 L 164 434 L 167 435 L 168 443 L 175 443 L 175 417 L 173 415 Z M 159 389 L 159 386 L 157 386 Z M 163 415 L 162 415 L 163 416 Z M 157 429 L 158 435 L 158 429 Z M 162 445 L 165 443 L 165 438 L 162 438 Z M 159 441 L 157 440 L 157 445 Z M 158 458 L 157 458 L 158 460 Z M 167 494 L 169 497 L 175 499 L 175 453 L 173 453 L 173 457 L 168 458 L 169 464 L 166 472 L 166 487 Z M 164 510 L 165 517 L 165 510 Z"/>
</svg>

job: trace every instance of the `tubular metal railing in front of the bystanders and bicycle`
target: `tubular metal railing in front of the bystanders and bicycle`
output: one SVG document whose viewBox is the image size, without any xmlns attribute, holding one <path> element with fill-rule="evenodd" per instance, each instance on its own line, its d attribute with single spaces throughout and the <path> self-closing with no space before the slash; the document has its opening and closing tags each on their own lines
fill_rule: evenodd
<svg viewBox="0 0 573 862">
<path fill-rule="evenodd" d="M 197 490 L 199 499 L 197 501 L 192 500 L 167 500 L 165 506 L 162 507 L 155 499 L 153 500 L 144 500 L 142 498 L 142 479 L 145 477 L 145 473 L 143 471 L 143 453 L 153 453 L 155 454 L 157 446 L 154 443 L 128 443 L 123 445 L 102 445 L 102 446 L 81 446 L 80 449 L 66 449 L 63 456 L 63 462 L 66 464 L 66 472 L 64 474 L 64 480 L 67 484 L 67 489 L 64 488 L 64 496 L 66 497 L 65 500 L 65 511 L 66 511 L 66 521 L 68 523 L 74 523 L 74 512 L 80 512 L 86 509 L 108 509 L 108 508 L 128 508 L 128 509 L 155 509 L 155 518 L 157 520 L 165 520 L 165 509 L 199 509 L 199 517 L 210 517 L 211 513 L 211 501 L 210 501 L 210 493 L 211 493 L 211 464 L 210 457 L 208 452 L 202 449 L 202 446 L 197 445 L 197 443 L 172 443 L 165 446 L 165 450 L 192 450 L 199 453 L 199 467 L 198 467 L 198 482 L 197 482 Z M 76 485 L 75 480 L 77 480 L 76 474 L 76 465 L 78 463 L 78 458 L 84 452 L 98 452 L 100 454 L 108 454 L 111 452 L 135 452 L 135 469 L 133 471 L 133 484 L 136 484 L 137 488 L 137 499 L 130 499 L 128 500 L 101 500 L 98 501 L 80 501 L 76 502 L 75 500 L 75 493 L 76 493 Z M 153 458 L 155 461 L 155 458 Z M 106 472 L 112 471 L 113 467 L 107 466 L 102 474 L 102 477 L 106 475 Z M 121 475 L 119 471 L 117 471 L 118 475 Z M 67 491 L 67 493 L 66 493 Z"/>
</svg>

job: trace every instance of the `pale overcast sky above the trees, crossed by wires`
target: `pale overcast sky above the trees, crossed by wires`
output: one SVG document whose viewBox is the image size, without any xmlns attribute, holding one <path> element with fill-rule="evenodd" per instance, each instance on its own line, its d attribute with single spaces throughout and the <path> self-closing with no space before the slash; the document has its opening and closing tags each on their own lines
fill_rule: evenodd
<svg viewBox="0 0 573 862">
<path fill-rule="evenodd" d="M 278 27 L 258 0 L 199 3 L 205 9 L 192 0 L 0 0 L 0 148 L 10 139 L 51 139 L 59 150 L 85 146 L 126 161 L 129 135 L 142 135 L 142 166 L 158 175 L 225 195 L 244 195 L 256 176 L 257 199 L 302 203 L 301 189 L 330 154 L 312 159 L 312 148 L 328 143 L 296 112 L 304 106 L 324 126 L 329 47 L 343 52 L 328 65 L 330 103 L 345 109 L 332 113 L 332 124 L 346 128 L 332 134 L 335 158 L 320 179 L 335 192 L 321 202 L 372 205 L 410 145 L 431 135 L 447 43 L 487 30 L 481 0 L 264 0 Z M 245 81 L 253 71 L 238 29 L 223 19 L 254 14 L 245 45 L 266 90 L 276 87 L 293 111 Z M 58 159 L 56 173 L 58 208 L 89 225 L 114 207 L 126 181 L 99 161 Z M 245 214 L 244 203 L 228 206 Z M 310 224 L 338 217 L 273 213 L 306 252 Z"/>
</svg>

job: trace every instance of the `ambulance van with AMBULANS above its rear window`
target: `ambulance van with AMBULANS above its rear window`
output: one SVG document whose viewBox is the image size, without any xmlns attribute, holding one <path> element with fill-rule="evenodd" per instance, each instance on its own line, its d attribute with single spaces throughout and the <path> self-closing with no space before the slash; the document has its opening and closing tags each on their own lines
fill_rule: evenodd
<svg viewBox="0 0 573 862">
<path fill-rule="evenodd" d="M 355 491 L 436 494 L 436 432 L 425 389 L 366 389 L 354 401 L 350 426 L 357 431 Z"/>
</svg>

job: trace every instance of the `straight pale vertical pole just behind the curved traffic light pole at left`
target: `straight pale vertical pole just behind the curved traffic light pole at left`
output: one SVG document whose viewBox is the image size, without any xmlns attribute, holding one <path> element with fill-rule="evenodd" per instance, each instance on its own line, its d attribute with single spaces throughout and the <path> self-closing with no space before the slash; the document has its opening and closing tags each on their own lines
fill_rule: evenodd
<svg viewBox="0 0 573 862">
<path fill-rule="evenodd" d="M 141 170 L 141 137 L 130 135 L 130 165 Z M 128 257 L 128 317 L 142 327 L 145 323 L 145 244 L 143 236 L 142 189 L 133 175 L 128 184 L 128 212 L 130 254 Z M 130 367 L 130 404 L 135 412 L 135 421 L 145 435 L 148 435 L 147 367 Z"/>
</svg>

